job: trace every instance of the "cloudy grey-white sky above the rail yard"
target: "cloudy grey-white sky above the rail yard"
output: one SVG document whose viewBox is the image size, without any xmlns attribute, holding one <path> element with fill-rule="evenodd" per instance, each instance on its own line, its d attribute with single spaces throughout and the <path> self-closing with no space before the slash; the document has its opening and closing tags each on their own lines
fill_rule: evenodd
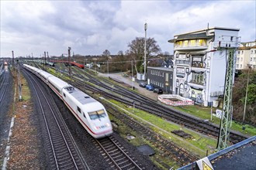
<svg viewBox="0 0 256 170">
<path fill-rule="evenodd" d="M 8 1 L 1 0 L 0 56 L 100 55 L 125 52 L 136 37 L 154 38 L 173 53 L 175 34 L 209 27 L 240 29 L 242 42 L 256 39 L 256 1 Z"/>
</svg>

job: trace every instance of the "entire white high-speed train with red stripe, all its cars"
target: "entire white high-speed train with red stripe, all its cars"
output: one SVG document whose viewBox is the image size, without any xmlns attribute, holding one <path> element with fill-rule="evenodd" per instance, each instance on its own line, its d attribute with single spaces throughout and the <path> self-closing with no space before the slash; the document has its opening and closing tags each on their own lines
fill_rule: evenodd
<svg viewBox="0 0 256 170">
<path fill-rule="evenodd" d="M 26 64 L 23 64 L 23 66 L 39 76 L 57 93 L 57 96 L 64 101 L 64 104 L 71 110 L 74 117 L 94 138 L 104 138 L 112 134 L 109 115 L 99 101 L 50 73 Z"/>
</svg>

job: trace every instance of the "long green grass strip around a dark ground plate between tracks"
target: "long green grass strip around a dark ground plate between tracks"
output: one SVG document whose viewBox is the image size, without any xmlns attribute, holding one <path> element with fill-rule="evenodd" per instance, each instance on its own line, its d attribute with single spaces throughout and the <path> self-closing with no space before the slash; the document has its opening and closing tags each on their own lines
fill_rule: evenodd
<svg viewBox="0 0 256 170">
<path fill-rule="evenodd" d="M 133 108 L 128 108 L 123 104 L 119 104 L 119 102 L 115 100 L 111 100 L 111 102 L 113 104 L 119 105 L 119 107 L 126 108 L 126 110 L 130 111 L 130 113 L 133 112 Z M 134 117 L 133 114 L 137 117 Z M 162 119 L 161 117 L 155 116 L 154 114 L 148 114 L 143 110 L 135 109 L 135 112 L 133 114 L 130 114 L 130 116 L 132 116 L 140 122 L 141 118 L 144 121 L 153 124 L 149 125 L 146 122 L 142 122 L 142 124 L 147 124 L 147 126 L 149 126 L 153 131 L 157 132 L 158 134 L 161 134 L 162 136 L 164 136 L 164 138 L 167 138 L 170 141 L 175 142 L 175 144 L 182 146 L 182 148 L 185 148 L 188 151 L 191 151 L 195 155 L 198 155 L 200 158 L 206 156 L 206 151 L 209 151 L 209 154 L 211 154 L 214 152 L 214 149 L 216 148 L 216 139 L 209 138 L 208 136 L 196 133 L 195 131 L 184 128 L 178 124 L 173 124 L 169 121 Z M 192 139 L 180 138 L 177 135 L 171 133 L 171 131 L 174 130 L 185 131 L 186 133 L 192 135 Z"/>
</svg>

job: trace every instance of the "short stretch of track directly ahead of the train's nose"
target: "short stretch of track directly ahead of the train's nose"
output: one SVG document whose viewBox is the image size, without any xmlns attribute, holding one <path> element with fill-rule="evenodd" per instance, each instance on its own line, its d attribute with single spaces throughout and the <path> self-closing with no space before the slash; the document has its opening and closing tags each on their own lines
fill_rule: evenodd
<svg viewBox="0 0 256 170">
<path fill-rule="evenodd" d="M 106 157 L 112 162 L 112 169 L 132 170 L 132 169 L 144 169 L 141 168 L 137 162 L 133 161 L 133 158 L 119 145 L 118 141 L 113 137 L 102 138 L 96 140 L 99 147 L 104 151 Z"/>
</svg>

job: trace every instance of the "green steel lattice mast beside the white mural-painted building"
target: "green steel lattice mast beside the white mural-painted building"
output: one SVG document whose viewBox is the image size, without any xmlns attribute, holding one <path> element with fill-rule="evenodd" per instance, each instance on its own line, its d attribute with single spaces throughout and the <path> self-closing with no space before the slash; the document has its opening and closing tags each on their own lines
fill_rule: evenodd
<svg viewBox="0 0 256 170">
<path fill-rule="evenodd" d="M 232 111 L 232 85 L 233 85 L 233 76 L 234 76 L 234 48 L 226 49 L 228 55 L 227 58 L 227 70 L 225 77 L 225 90 L 223 96 L 223 111 L 220 121 L 220 133 L 217 149 L 221 150 L 227 148 L 227 141 L 229 141 L 230 131 L 229 126 L 231 123 L 231 111 Z"/>
</svg>

